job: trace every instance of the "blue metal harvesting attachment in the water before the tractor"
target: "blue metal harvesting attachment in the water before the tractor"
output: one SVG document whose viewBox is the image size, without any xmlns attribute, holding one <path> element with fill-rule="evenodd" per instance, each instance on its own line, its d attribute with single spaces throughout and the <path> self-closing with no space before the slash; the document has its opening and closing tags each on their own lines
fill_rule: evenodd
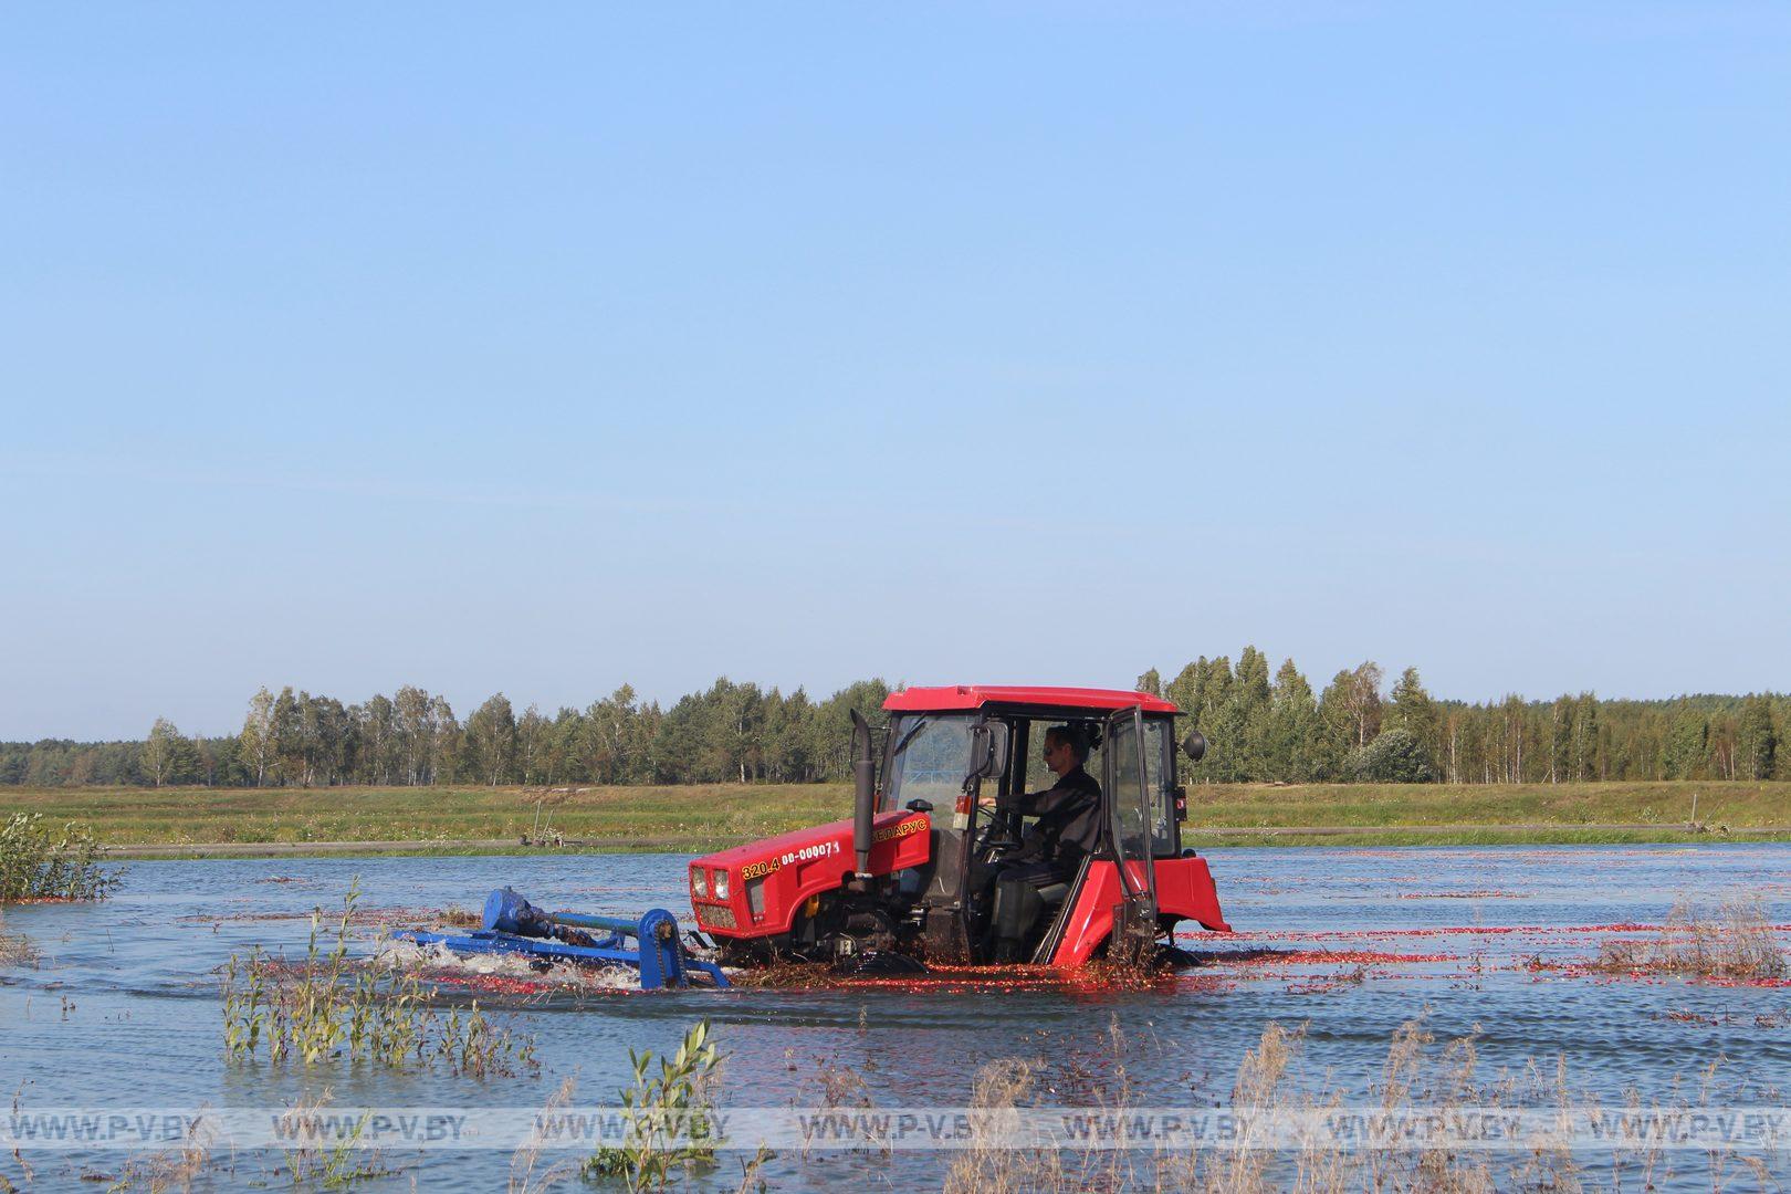
<svg viewBox="0 0 1791 1194">
<path fill-rule="evenodd" d="M 602 934 L 602 936 L 600 936 Z M 394 933 L 417 945 L 446 945 L 457 954 L 527 954 L 543 961 L 621 965 L 641 972 L 641 990 L 690 986 L 691 974 L 727 986 L 713 961 L 684 952 L 677 917 L 656 908 L 639 920 L 587 913 L 550 913 L 510 888 L 485 899 L 485 927 L 476 933 Z M 632 943 L 629 938 L 634 938 Z"/>
</svg>

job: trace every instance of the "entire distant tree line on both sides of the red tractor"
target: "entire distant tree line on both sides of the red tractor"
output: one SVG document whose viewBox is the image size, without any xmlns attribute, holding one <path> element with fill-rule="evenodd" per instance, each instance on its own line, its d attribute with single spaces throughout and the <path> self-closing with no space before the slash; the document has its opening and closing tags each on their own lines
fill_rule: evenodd
<svg viewBox="0 0 1791 1194">
<path fill-rule="evenodd" d="M 1322 691 L 1293 661 L 1270 673 L 1254 646 L 1196 659 L 1135 687 L 1173 700 L 1213 743 L 1193 782 L 1583 782 L 1791 779 L 1791 698 L 1680 696 L 1483 704 L 1433 698 L 1417 668 L 1388 687 L 1374 662 Z M 861 680 L 826 700 L 720 678 L 663 707 L 623 684 L 584 709 L 516 712 L 498 693 L 462 721 L 441 695 L 405 686 L 344 705 L 258 691 L 242 730 L 192 738 L 167 718 L 136 741 L 0 743 L 0 784 L 693 784 L 851 777 L 849 727 L 874 721 L 890 687 Z"/>
</svg>

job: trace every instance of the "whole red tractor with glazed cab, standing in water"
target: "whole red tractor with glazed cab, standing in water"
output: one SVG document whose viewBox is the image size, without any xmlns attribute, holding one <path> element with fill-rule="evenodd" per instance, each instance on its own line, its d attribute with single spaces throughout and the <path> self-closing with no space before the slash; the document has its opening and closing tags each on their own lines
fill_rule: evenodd
<svg viewBox="0 0 1791 1194">
<path fill-rule="evenodd" d="M 1175 784 L 1173 704 L 1109 689 L 956 686 L 894 693 L 883 709 L 885 734 L 853 714 L 851 820 L 690 865 L 697 924 L 725 961 L 1071 968 L 1094 956 L 1155 958 L 1182 920 L 1230 931 L 1205 859 L 1182 849 L 1187 793 Z M 1042 764 L 1028 763 L 1066 736 L 1100 784 L 1087 797 L 1098 809 L 1094 849 L 1073 872 L 1024 890 L 996 884 L 989 877 L 1037 831 L 1023 816 L 1024 793 L 1050 786 Z M 1189 732 L 1180 748 L 1198 761 L 1205 741 Z"/>
</svg>

